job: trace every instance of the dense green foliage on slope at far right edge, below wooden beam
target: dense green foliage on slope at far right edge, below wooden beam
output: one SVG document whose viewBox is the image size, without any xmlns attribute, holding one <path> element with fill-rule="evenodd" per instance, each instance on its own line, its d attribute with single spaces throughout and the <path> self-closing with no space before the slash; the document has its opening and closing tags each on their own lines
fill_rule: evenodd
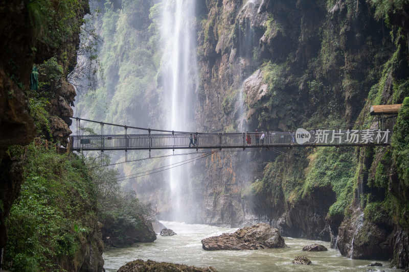
<svg viewBox="0 0 409 272">
<path fill-rule="evenodd" d="M 366 195 L 365 217 L 376 224 L 394 222 L 403 228 L 409 227 L 406 201 L 409 193 L 408 120 L 409 97 L 406 97 L 394 126 L 392 149 L 384 151 L 381 159 L 375 161 L 371 171 L 373 174 L 368 179 L 372 190 Z"/>
</svg>

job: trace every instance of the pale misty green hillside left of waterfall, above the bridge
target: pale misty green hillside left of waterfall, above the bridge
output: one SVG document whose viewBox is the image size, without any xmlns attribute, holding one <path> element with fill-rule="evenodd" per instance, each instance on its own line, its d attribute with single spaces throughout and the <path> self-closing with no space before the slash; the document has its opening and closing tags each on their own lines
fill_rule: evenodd
<svg viewBox="0 0 409 272">
<path fill-rule="evenodd" d="M 95 91 L 85 90 L 76 105 L 90 119 L 147 126 L 146 117 L 152 109 L 147 109 L 143 116 L 131 113 L 147 106 L 141 101 L 153 100 L 156 84 L 161 84 L 158 74 L 162 53 L 158 26 L 161 9 L 162 4 L 153 5 L 151 1 L 125 1 L 117 10 L 110 1 L 105 2 L 94 20 L 95 31 L 104 41 L 98 56 L 104 67 L 105 83 L 96 86 Z"/>
</svg>

